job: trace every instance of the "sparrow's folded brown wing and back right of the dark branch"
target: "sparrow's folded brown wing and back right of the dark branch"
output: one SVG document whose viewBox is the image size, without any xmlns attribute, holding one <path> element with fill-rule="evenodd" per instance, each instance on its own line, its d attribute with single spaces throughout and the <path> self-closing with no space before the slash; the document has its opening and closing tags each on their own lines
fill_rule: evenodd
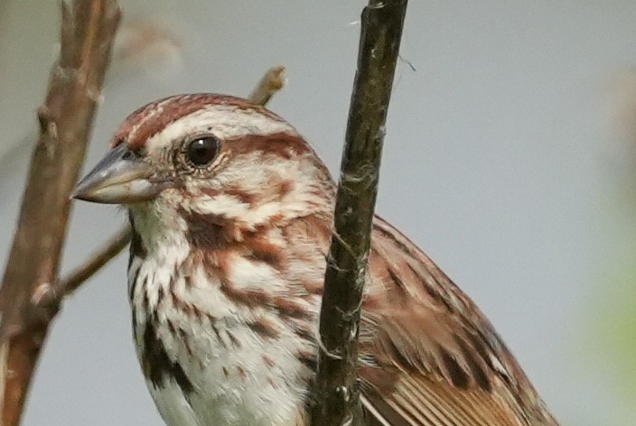
<svg viewBox="0 0 636 426">
<path fill-rule="evenodd" d="M 488 319 L 380 218 L 367 285 L 360 380 L 369 424 L 557 426 Z"/>
</svg>

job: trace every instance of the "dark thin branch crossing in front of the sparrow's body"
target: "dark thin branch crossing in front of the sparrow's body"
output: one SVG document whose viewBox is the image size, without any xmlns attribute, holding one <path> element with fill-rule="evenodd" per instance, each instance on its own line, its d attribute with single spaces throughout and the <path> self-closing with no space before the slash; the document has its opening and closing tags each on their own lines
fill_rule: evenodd
<svg viewBox="0 0 636 426">
<path fill-rule="evenodd" d="M 407 0 L 370 0 L 362 11 L 358 71 L 342 153 L 320 313 L 313 426 L 360 424 L 358 325 L 388 101 Z"/>
</svg>

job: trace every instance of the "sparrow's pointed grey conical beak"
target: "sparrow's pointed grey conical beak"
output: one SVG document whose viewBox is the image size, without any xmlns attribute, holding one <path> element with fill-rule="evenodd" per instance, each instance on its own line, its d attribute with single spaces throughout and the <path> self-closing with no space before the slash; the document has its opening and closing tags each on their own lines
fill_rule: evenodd
<svg viewBox="0 0 636 426">
<path fill-rule="evenodd" d="M 106 204 L 154 199 L 165 187 L 150 181 L 152 175 L 146 162 L 132 153 L 126 144 L 119 144 L 79 181 L 72 198 Z"/>
</svg>

